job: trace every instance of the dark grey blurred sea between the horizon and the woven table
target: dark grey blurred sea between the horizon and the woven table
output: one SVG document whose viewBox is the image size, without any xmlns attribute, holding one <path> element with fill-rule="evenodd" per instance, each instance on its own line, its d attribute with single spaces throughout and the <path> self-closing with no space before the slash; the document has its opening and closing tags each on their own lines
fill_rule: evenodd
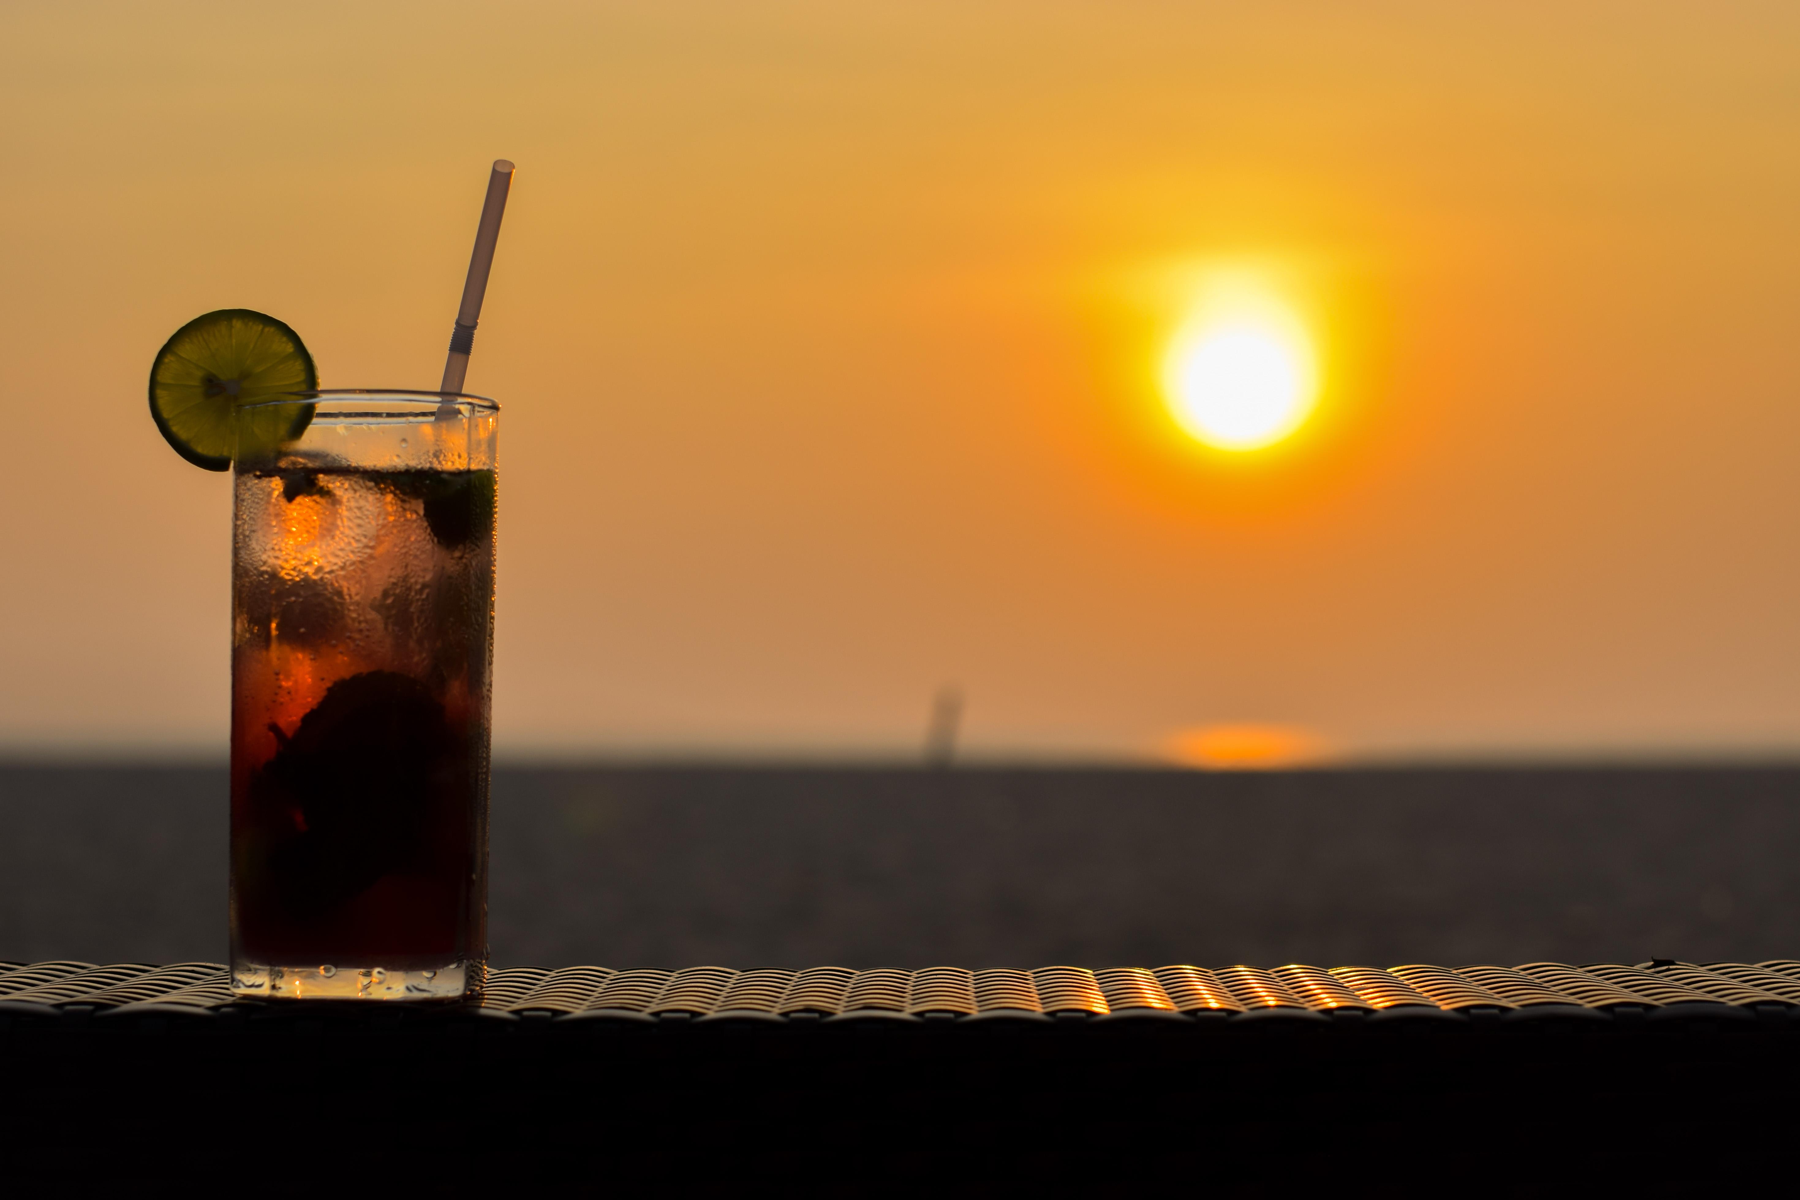
<svg viewBox="0 0 1800 1200">
<path fill-rule="evenodd" d="M 0 765 L 0 959 L 225 954 L 223 768 Z M 1800 957 L 1800 768 L 500 768 L 500 966 Z"/>
</svg>

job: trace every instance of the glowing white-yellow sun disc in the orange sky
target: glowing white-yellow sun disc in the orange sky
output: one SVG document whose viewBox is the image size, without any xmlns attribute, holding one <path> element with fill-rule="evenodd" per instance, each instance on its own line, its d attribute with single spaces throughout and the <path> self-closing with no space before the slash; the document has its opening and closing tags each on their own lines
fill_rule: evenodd
<svg viewBox="0 0 1800 1200">
<path fill-rule="evenodd" d="M 1202 302 L 1170 342 L 1163 394 L 1175 423 L 1215 450 L 1273 446 L 1312 414 L 1312 342 L 1285 304 L 1233 288 Z"/>
</svg>

